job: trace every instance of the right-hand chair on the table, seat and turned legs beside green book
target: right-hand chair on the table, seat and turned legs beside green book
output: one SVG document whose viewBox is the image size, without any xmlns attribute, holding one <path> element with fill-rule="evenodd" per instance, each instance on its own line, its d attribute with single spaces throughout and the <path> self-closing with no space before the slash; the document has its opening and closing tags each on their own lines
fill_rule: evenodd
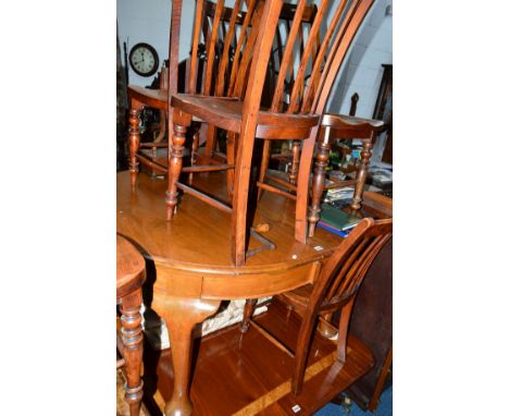
<svg viewBox="0 0 509 416">
<path fill-rule="evenodd" d="M 323 135 L 318 140 L 318 152 L 315 156 L 315 168 L 313 175 L 313 185 L 311 193 L 311 207 L 309 215 L 309 236 L 314 234 L 314 228 L 320 220 L 320 205 L 324 189 L 353 186 L 353 197 L 350 203 L 350 209 L 356 212 L 361 207 L 362 193 L 364 191 L 368 167 L 371 159 L 371 149 L 373 148 L 376 135 L 383 130 L 384 122 L 380 120 L 362 119 L 352 115 L 324 114 L 321 121 Z M 328 164 L 331 150 L 331 140 L 360 138 L 362 139 L 362 152 L 360 163 L 357 168 L 355 180 L 337 181 L 333 185 L 325 185 L 325 168 Z"/>
</svg>

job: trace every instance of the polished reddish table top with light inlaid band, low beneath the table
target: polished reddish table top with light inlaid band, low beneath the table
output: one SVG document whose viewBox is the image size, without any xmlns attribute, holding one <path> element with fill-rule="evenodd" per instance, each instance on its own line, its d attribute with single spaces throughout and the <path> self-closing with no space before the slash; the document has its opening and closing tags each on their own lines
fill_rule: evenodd
<svg viewBox="0 0 509 416">
<path fill-rule="evenodd" d="M 273 303 L 257 321 L 294 348 L 299 318 Z M 343 368 L 335 343 L 316 335 L 301 395 L 290 393 L 293 358 L 256 328 L 241 335 L 238 325 L 196 340 L 191 383 L 194 415 L 310 415 L 328 403 L 373 366 L 371 352 L 351 337 Z M 152 416 L 162 415 L 162 397 L 173 389 L 170 350 L 146 347 L 144 402 Z M 158 391 L 156 391 L 156 384 Z M 159 404 L 158 404 L 159 402 Z"/>
</svg>

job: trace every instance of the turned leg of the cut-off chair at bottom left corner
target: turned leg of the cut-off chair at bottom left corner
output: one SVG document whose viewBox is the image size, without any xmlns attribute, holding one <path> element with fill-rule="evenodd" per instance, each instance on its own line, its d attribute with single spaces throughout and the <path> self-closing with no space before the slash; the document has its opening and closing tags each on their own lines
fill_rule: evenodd
<svg viewBox="0 0 509 416">
<path fill-rule="evenodd" d="M 125 401 L 129 404 L 131 416 L 138 416 L 144 395 L 141 360 L 144 334 L 141 331 L 141 289 L 122 298 L 121 325 L 123 357 L 125 360 Z"/>
</svg>

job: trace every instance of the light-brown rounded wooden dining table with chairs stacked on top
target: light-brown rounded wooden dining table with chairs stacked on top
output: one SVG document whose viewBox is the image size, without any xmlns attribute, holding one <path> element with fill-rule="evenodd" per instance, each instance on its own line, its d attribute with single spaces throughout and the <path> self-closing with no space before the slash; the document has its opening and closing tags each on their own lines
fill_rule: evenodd
<svg viewBox="0 0 509 416">
<path fill-rule="evenodd" d="M 223 173 L 196 175 L 194 186 L 227 199 Z M 173 394 L 165 415 L 189 415 L 193 357 L 191 331 L 213 315 L 224 299 L 259 298 L 313 282 L 321 265 L 343 238 L 316 229 L 307 244 L 294 238 L 295 203 L 264 193 L 252 224 L 275 245 L 235 267 L 229 256 L 231 216 L 184 195 L 172 221 L 165 220 L 166 181 L 139 174 L 132 186 L 129 172 L 116 176 L 116 231 L 153 261 L 151 304 L 171 338 Z M 268 227 L 266 227 L 268 225 Z M 252 236 L 248 249 L 262 248 Z M 147 283 L 146 283 L 147 284 Z"/>
</svg>

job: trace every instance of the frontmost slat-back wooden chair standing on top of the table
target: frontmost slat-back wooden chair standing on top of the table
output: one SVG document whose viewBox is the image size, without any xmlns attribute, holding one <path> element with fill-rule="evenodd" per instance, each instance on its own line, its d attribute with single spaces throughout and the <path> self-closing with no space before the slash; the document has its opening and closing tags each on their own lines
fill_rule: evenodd
<svg viewBox="0 0 509 416">
<path fill-rule="evenodd" d="M 320 50 L 316 52 L 316 58 L 313 60 L 314 65 L 308 77 L 308 85 L 305 85 L 305 75 L 313 51 L 315 34 L 323 23 L 330 1 L 325 0 L 320 4 L 309 33 L 311 41 L 306 42 L 299 71 L 291 88 L 290 105 L 286 109 L 282 108 L 281 99 L 284 96 L 283 87 L 288 69 L 294 64 L 290 62 L 290 57 L 293 56 L 296 36 L 307 5 L 306 0 L 299 0 L 295 9 L 293 27 L 283 54 L 277 85 L 269 111 L 260 110 L 260 97 L 263 88 L 262 81 L 265 79 L 266 66 L 274 41 L 275 27 L 278 24 L 282 0 L 271 0 L 264 3 L 263 15 L 260 21 L 260 27 L 263 27 L 263 30 L 260 32 L 259 36 L 251 33 L 246 42 L 246 45 L 251 45 L 256 41 L 252 58 L 246 52 L 247 48 L 243 49 L 243 63 L 246 65 L 244 73 L 250 65 L 244 100 L 195 94 L 173 96 L 174 132 L 172 134 L 172 155 L 166 194 L 166 217 L 169 220 L 172 219 L 177 204 L 177 188 L 225 212 L 231 212 L 232 261 L 237 266 L 243 265 L 246 256 L 246 211 L 254 137 L 265 140 L 303 139 L 305 143 L 310 143 L 303 146 L 300 160 L 302 169 L 299 172 L 297 195 L 294 196 L 261 182 L 259 186 L 297 200 L 295 236 L 296 240 L 306 243 L 309 173 L 303 175 L 302 172 L 309 172 L 311 168 L 312 150 L 318 132 L 318 113 L 323 110 L 339 64 L 372 2 L 373 0 L 343 1 L 337 7 Z M 227 44 L 225 48 L 227 48 Z M 318 94 L 315 94 L 316 91 Z M 193 171 L 189 168 L 182 168 L 185 133 L 193 118 L 199 118 L 215 127 L 226 130 L 231 135 L 237 134 L 239 137 L 236 145 L 235 164 L 228 162 L 226 167 L 222 167 L 222 169 L 228 170 L 235 168 L 232 206 L 178 181 L 182 171 L 185 171 L 185 169 Z"/>
</svg>

